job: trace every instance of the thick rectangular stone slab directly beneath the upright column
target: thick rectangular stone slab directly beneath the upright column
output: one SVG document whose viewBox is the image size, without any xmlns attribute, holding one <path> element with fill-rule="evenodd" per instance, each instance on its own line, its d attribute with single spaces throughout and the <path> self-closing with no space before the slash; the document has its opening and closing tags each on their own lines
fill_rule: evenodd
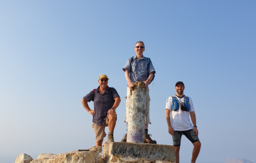
<svg viewBox="0 0 256 163">
<path fill-rule="evenodd" d="M 176 161 L 173 146 L 145 143 L 107 143 L 104 145 L 103 158 L 108 163 Z"/>
</svg>

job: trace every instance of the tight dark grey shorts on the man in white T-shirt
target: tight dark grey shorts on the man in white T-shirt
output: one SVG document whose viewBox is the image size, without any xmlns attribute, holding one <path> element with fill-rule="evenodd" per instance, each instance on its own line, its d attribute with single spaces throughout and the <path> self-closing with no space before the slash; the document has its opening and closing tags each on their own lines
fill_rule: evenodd
<svg viewBox="0 0 256 163">
<path fill-rule="evenodd" d="M 182 134 L 186 136 L 189 139 L 189 141 L 191 141 L 191 143 L 195 143 L 196 141 L 199 141 L 199 138 L 198 136 L 196 136 L 196 132 L 194 132 L 193 129 L 185 130 L 185 131 L 174 131 L 172 136 L 173 146 L 180 146 L 180 140 L 181 140 Z"/>
</svg>

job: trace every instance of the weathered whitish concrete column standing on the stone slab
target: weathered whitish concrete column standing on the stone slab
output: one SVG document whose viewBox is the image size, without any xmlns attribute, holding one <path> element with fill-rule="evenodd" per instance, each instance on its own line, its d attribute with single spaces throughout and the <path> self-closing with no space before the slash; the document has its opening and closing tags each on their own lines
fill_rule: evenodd
<svg viewBox="0 0 256 163">
<path fill-rule="evenodd" d="M 129 96 L 129 118 L 127 122 L 127 142 L 144 143 L 146 89 L 144 82 L 135 82 Z"/>
</svg>

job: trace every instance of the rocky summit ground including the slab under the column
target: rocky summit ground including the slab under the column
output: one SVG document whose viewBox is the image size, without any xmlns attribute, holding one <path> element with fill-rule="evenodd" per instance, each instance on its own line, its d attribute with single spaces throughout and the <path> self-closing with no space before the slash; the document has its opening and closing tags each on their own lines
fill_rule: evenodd
<svg viewBox="0 0 256 163">
<path fill-rule="evenodd" d="M 41 154 L 32 159 L 27 154 L 20 154 L 15 163 L 129 163 L 152 162 L 174 163 L 173 146 L 144 143 L 107 143 L 104 145 L 103 156 L 97 151 L 70 151 L 58 155 Z"/>
</svg>

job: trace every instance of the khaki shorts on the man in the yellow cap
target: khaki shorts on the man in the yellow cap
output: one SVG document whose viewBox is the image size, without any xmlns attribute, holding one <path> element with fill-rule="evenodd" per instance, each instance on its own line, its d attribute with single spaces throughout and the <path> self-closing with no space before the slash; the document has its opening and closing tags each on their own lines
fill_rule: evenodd
<svg viewBox="0 0 256 163">
<path fill-rule="evenodd" d="M 116 120 L 117 120 L 117 114 L 116 114 Z M 95 123 L 92 123 L 92 128 L 95 133 L 96 142 L 100 141 L 107 135 L 105 132 L 105 127 L 108 127 L 108 116 L 107 116 L 106 120 L 104 120 L 104 123 L 105 124 L 103 124 L 103 125 L 97 125 Z"/>
</svg>

